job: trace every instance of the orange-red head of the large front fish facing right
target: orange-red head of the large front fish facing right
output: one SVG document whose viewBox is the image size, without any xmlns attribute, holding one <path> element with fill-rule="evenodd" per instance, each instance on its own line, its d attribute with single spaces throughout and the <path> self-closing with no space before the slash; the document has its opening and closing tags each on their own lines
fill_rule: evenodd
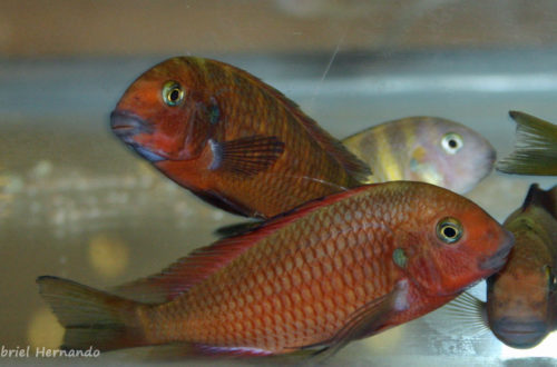
<svg viewBox="0 0 557 367">
<path fill-rule="evenodd" d="M 422 294 L 458 294 L 504 266 L 514 245 L 508 230 L 455 192 L 418 187 L 411 200 L 419 202 L 410 205 L 413 220 L 402 225 L 407 235 L 397 238 L 393 260 Z"/>
</svg>

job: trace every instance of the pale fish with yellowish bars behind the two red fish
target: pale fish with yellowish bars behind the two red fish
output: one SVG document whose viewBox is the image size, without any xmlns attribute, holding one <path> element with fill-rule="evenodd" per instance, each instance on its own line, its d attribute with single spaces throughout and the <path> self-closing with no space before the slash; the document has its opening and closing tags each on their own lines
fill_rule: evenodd
<svg viewBox="0 0 557 367">
<path fill-rule="evenodd" d="M 423 181 L 458 194 L 492 169 L 494 147 L 478 132 L 438 117 L 407 117 L 356 132 L 344 146 L 373 167 L 370 182 Z"/>
</svg>

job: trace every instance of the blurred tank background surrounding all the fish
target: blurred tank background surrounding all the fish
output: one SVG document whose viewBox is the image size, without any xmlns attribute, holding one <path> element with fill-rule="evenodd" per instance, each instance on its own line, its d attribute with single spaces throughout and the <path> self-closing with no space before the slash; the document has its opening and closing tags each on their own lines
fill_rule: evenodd
<svg viewBox="0 0 557 367">
<path fill-rule="evenodd" d="M 179 54 L 250 71 L 339 138 L 439 116 L 476 129 L 504 157 L 514 143 L 508 110 L 557 121 L 551 0 L 2 0 L 0 345 L 60 343 L 37 276 L 108 288 L 158 271 L 241 220 L 155 172 L 108 129 L 127 86 Z M 494 172 L 468 197 L 504 220 L 534 181 L 556 184 Z M 516 350 L 462 329 L 447 331 L 432 314 L 352 343 L 331 364 L 556 363 L 555 336 Z M 138 354 L 101 359 L 145 360 Z"/>
</svg>

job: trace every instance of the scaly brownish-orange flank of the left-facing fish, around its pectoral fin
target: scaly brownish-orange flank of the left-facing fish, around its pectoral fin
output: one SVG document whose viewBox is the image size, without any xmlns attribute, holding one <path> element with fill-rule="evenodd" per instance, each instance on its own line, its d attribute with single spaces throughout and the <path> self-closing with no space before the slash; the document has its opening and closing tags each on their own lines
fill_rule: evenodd
<svg viewBox="0 0 557 367">
<path fill-rule="evenodd" d="M 223 69 L 217 68 L 215 65 L 206 72 L 212 75 L 222 73 Z M 221 79 L 228 78 L 225 82 L 229 87 L 228 93 L 243 96 L 243 106 L 241 108 L 228 107 L 223 103 L 223 115 L 227 116 L 229 110 L 231 118 L 227 126 L 224 127 L 225 136 L 224 140 L 233 140 L 237 137 L 253 135 L 268 135 L 277 137 L 287 137 L 286 141 L 287 149 L 285 149 L 284 158 L 281 158 L 276 162 L 276 170 L 281 170 L 284 173 L 273 175 L 273 172 L 262 172 L 260 173 L 261 179 L 252 179 L 246 181 L 245 178 L 238 176 L 231 176 L 226 181 L 223 180 L 221 189 L 225 189 L 226 186 L 233 186 L 238 188 L 237 197 L 242 198 L 242 201 L 268 201 L 272 207 L 287 207 L 292 208 L 297 206 L 301 197 L 310 199 L 306 192 L 317 192 L 323 190 L 323 184 L 330 181 L 328 177 L 332 177 L 336 171 L 340 177 L 343 177 L 343 172 L 338 167 L 330 167 L 330 165 L 324 165 L 328 161 L 326 151 L 321 149 L 317 143 L 306 136 L 306 131 L 300 129 L 300 125 L 291 117 L 286 108 L 282 105 L 276 103 L 275 99 L 266 91 L 257 88 L 256 85 L 250 83 L 245 78 L 240 78 L 236 70 L 231 68 L 225 68 L 225 76 L 214 78 L 214 82 L 211 85 L 221 85 Z M 217 90 L 213 90 L 213 93 L 217 95 Z M 224 99 L 225 101 L 227 99 Z M 247 109 L 248 113 L 244 112 Z M 258 119 L 254 117 L 260 117 Z M 241 120 L 243 123 L 237 123 Z M 277 121 L 278 123 L 262 123 L 262 121 Z M 292 133 L 290 130 L 294 129 L 295 132 Z M 289 149 L 291 147 L 291 149 Z M 302 157 L 294 157 L 290 151 L 307 152 Z M 301 170 L 302 165 L 310 169 Z M 304 175 L 300 175 L 300 172 Z M 324 172 L 324 175 L 317 175 L 316 172 Z M 310 182 L 304 182 L 307 178 L 313 178 Z M 345 176 L 343 177 L 345 180 Z M 253 182 L 253 184 L 252 184 Z M 348 186 L 355 185 L 354 181 L 346 181 Z M 303 190 L 295 190 L 295 188 L 304 188 Z M 252 192 L 257 189 L 262 190 L 261 197 L 254 197 Z M 330 194 L 338 191 L 340 187 L 328 187 L 324 194 Z M 277 196 L 275 192 L 289 192 L 291 195 Z"/>
</svg>

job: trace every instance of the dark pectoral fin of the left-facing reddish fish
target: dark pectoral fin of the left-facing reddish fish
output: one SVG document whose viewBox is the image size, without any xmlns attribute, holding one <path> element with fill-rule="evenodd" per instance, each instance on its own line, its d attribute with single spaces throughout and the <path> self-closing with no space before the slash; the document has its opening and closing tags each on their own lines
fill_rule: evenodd
<svg viewBox="0 0 557 367">
<path fill-rule="evenodd" d="M 213 161 L 209 169 L 244 176 L 265 171 L 281 157 L 284 142 L 276 137 L 253 136 L 231 141 L 209 140 Z"/>
</svg>

